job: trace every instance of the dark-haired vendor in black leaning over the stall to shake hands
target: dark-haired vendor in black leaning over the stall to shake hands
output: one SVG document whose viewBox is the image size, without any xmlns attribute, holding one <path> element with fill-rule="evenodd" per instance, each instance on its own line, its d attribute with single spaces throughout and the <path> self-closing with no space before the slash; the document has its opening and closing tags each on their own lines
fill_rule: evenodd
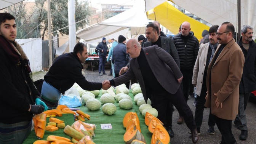
<svg viewBox="0 0 256 144">
<path fill-rule="evenodd" d="M 82 74 L 83 65 L 88 58 L 87 47 L 83 43 L 77 43 L 73 52 L 62 54 L 50 67 L 44 80 L 34 82 L 41 92 L 41 99 L 49 109 L 58 106 L 61 94 L 69 90 L 74 83 L 77 83 L 83 90 L 107 90 L 110 85 L 97 82 L 88 82 Z"/>
</svg>

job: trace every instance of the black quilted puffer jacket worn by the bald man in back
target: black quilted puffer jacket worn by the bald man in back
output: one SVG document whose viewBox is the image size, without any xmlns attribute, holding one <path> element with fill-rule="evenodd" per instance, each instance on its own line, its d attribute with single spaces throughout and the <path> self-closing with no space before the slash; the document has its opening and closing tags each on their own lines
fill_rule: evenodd
<svg viewBox="0 0 256 144">
<path fill-rule="evenodd" d="M 185 39 L 186 37 L 183 37 L 181 34 L 177 34 L 173 37 L 174 44 L 179 54 L 181 69 L 193 69 L 197 59 L 199 42 L 191 33 L 187 36 L 187 41 Z"/>
</svg>

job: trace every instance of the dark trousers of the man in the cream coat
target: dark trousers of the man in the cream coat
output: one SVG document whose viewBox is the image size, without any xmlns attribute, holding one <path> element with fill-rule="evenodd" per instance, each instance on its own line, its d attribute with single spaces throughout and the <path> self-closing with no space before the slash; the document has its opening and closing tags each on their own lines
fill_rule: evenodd
<svg viewBox="0 0 256 144">
<path fill-rule="evenodd" d="M 197 96 L 197 107 L 195 108 L 195 124 L 197 125 L 197 131 L 200 132 L 200 128 L 202 125 L 203 121 L 203 110 L 205 107 L 205 94 L 200 94 L 201 96 Z M 210 114 L 208 118 L 208 126 L 214 126 L 215 125 L 215 116 L 211 114 L 211 109 L 210 109 Z"/>
</svg>

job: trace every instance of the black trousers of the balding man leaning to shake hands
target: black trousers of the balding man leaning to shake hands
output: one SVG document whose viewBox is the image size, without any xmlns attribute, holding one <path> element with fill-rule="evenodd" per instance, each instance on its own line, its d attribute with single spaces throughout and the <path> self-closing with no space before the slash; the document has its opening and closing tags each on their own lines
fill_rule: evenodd
<svg viewBox="0 0 256 144">
<path fill-rule="evenodd" d="M 170 103 L 173 103 L 178 112 L 184 117 L 187 127 L 190 130 L 194 130 L 196 128 L 193 113 L 187 105 L 187 101 L 180 88 L 175 94 L 170 94 L 167 91 L 153 93 L 152 101 L 154 103 L 154 108 L 158 111 L 157 118 L 164 123 L 164 126 L 170 126 L 167 117 L 169 116 L 169 112 L 172 111 L 169 108 Z"/>
</svg>

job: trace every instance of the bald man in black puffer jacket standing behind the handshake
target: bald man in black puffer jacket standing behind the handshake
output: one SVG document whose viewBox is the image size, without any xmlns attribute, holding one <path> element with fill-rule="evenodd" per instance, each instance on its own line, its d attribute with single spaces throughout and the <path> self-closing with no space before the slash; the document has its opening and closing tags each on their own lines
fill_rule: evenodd
<svg viewBox="0 0 256 144">
<path fill-rule="evenodd" d="M 183 91 L 186 101 L 189 98 L 189 87 L 192 82 L 193 69 L 199 50 L 198 39 L 190 33 L 190 30 L 190 23 L 183 22 L 181 24 L 181 33 L 173 37 L 174 45 L 179 54 L 181 73 L 184 77 L 181 82 L 181 90 Z M 183 116 L 180 115 L 177 123 L 182 124 L 183 119 Z"/>
</svg>

